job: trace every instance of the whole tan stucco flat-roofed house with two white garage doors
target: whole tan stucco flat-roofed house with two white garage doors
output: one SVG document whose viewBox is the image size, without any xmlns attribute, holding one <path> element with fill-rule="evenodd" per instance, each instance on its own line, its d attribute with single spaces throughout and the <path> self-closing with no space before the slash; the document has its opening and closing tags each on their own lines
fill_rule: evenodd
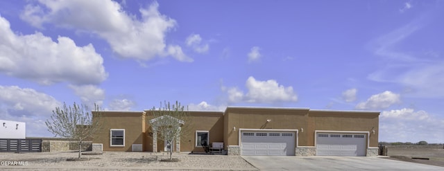
<svg viewBox="0 0 444 171">
<path fill-rule="evenodd" d="M 147 111 L 102 111 L 103 151 L 203 152 L 213 145 L 228 155 L 377 156 L 379 111 L 284 107 L 227 107 L 189 111 L 187 132 L 171 145 L 157 139 Z"/>
</svg>

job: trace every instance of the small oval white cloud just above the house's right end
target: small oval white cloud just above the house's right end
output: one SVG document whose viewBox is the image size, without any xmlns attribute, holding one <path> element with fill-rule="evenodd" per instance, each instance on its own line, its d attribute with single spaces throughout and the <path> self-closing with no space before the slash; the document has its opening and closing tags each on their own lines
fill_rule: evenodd
<svg viewBox="0 0 444 171">
<path fill-rule="evenodd" d="M 391 91 L 384 91 L 371 96 L 366 102 L 360 102 L 358 105 L 356 105 L 356 109 L 386 109 L 391 107 L 391 105 L 400 102 L 400 94 L 392 93 Z"/>
</svg>

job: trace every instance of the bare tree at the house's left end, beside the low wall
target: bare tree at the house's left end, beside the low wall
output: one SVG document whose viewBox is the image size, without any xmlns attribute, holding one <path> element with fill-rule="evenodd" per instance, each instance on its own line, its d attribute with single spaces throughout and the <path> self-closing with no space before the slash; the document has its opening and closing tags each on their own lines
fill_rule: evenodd
<svg viewBox="0 0 444 171">
<path fill-rule="evenodd" d="M 99 111 L 99 106 L 94 104 L 95 111 Z M 92 120 L 92 113 L 88 111 L 85 105 L 77 105 L 74 102 L 73 107 L 67 107 L 64 102 L 63 107 L 56 107 L 53 111 L 51 120 L 46 120 L 48 131 L 54 136 L 69 138 L 78 142 L 78 158 L 80 159 L 82 142 L 87 138 L 99 132 L 101 129 L 100 113 L 94 114 L 94 121 Z"/>
</svg>

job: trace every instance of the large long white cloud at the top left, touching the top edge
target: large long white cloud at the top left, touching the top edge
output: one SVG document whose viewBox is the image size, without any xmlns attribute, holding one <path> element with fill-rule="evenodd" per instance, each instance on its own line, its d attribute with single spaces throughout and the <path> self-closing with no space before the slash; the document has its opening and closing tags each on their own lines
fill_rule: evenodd
<svg viewBox="0 0 444 171">
<path fill-rule="evenodd" d="M 78 32 L 93 33 L 105 39 L 121 57 L 151 60 L 172 55 L 181 60 L 177 45 L 167 46 L 165 37 L 176 27 L 176 20 L 160 14 L 159 4 L 140 8 L 140 18 L 125 12 L 121 5 L 110 0 L 46 1 L 28 4 L 21 18 L 36 27 L 45 23 Z M 169 47 L 168 49 L 165 49 Z M 172 51 L 172 50 L 175 51 Z"/>
</svg>

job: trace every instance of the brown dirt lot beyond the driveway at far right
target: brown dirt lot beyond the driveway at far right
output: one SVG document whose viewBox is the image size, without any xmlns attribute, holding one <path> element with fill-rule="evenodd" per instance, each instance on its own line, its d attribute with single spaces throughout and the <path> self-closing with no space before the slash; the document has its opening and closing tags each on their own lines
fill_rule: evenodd
<svg viewBox="0 0 444 171">
<path fill-rule="evenodd" d="M 391 156 L 388 159 L 409 161 L 427 165 L 438 165 L 444 167 L 444 149 L 442 148 L 433 149 L 389 146 L 387 155 Z"/>
</svg>

